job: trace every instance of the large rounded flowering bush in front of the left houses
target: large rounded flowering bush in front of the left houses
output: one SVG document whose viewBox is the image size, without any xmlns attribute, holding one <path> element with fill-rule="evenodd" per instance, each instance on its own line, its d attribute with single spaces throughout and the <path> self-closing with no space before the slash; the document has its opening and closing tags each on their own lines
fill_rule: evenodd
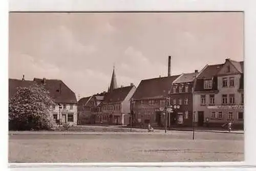
<svg viewBox="0 0 256 171">
<path fill-rule="evenodd" d="M 10 130 L 50 130 L 53 128 L 51 106 L 54 100 L 43 86 L 18 87 L 9 100 Z"/>
</svg>

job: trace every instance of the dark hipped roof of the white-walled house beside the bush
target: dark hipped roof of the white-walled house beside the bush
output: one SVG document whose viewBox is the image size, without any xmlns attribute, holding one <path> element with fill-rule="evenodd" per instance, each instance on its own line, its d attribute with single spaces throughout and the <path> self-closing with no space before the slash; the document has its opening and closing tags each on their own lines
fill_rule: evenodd
<svg viewBox="0 0 256 171">
<path fill-rule="evenodd" d="M 38 84 L 44 84 L 43 79 L 34 78 L 34 81 Z M 46 79 L 44 87 L 50 92 L 55 103 L 77 103 L 75 93 L 61 80 Z"/>
</svg>

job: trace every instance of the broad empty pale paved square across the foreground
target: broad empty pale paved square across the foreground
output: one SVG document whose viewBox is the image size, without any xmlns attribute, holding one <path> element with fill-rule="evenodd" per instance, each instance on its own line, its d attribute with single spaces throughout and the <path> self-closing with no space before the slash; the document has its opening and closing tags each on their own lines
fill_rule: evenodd
<svg viewBox="0 0 256 171">
<path fill-rule="evenodd" d="M 10 132 L 11 133 L 11 132 Z M 242 161 L 244 135 L 23 132 L 9 135 L 9 162 Z M 38 133 L 38 134 L 36 134 Z"/>
</svg>

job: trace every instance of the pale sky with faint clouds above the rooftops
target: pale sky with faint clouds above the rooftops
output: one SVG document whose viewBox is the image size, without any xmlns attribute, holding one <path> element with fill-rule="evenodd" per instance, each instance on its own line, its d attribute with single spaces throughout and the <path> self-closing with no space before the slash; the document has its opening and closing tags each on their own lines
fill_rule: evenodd
<svg viewBox="0 0 256 171">
<path fill-rule="evenodd" d="M 10 13 L 9 78 L 61 79 L 77 98 L 242 61 L 241 12 Z"/>
</svg>

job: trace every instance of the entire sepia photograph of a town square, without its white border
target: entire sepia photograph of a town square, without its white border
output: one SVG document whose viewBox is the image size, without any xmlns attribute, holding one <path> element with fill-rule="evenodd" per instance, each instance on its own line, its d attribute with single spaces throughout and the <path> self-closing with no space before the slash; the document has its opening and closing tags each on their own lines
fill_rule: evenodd
<svg viewBox="0 0 256 171">
<path fill-rule="evenodd" d="M 243 12 L 10 12 L 9 163 L 244 161 Z"/>
</svg>

